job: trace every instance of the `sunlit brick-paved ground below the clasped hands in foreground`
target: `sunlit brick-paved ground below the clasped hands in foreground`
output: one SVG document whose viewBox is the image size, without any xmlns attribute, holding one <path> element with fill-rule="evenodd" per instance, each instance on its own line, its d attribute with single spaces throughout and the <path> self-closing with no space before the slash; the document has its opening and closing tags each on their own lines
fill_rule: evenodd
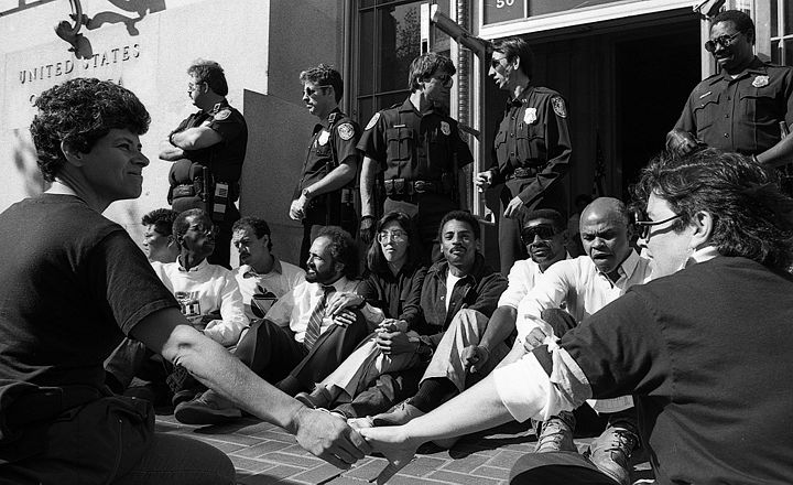
<svg viewBox="0 0 793 485">
<path fill-rule="evenodd" d="M 242 419 L 233 424 L 192 427 L 181 424 L 172 414 L 160 414 L 156 427 L 157 431 L 189 435 L 222 450 L 237 466 L 238 483 L 246 485 L 362 485 L 373 481 L 387 464 L 382 457 L 366 457 L 351 470 L 338 470 L 304 451 L 281 428 L 253 419 Z M 589 441 L 582 439 L 576 443 L 583 449 Z M 510 423 L 466 436 L 452 450 L 425 445 L 389 483 L 506 484 L 512 464 L 533 451 L 534 442 L 534 433 L 528 425 Z M 647 466 L 642 464 L 639 468 Z M 634 475 L 640 478 L 648 472 Z"/>
</svg>

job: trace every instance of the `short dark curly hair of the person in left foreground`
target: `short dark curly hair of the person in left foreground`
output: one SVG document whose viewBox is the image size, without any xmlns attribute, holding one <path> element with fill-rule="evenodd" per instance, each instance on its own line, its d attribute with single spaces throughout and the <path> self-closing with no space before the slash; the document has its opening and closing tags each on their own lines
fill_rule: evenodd
<svg viewBox="0 0 793 485">
<path fill-rule="evenodd" d="M 137 134 L 149 130 L 151 117 L 129 89 L 109 80 L 78 77 L 54 86 L 35 101 L 39 112 L 31 122 L 39 170 L 54 182 L 66 163 L 61 143 L 88 153 L 112 129 Z"/>
</svg>

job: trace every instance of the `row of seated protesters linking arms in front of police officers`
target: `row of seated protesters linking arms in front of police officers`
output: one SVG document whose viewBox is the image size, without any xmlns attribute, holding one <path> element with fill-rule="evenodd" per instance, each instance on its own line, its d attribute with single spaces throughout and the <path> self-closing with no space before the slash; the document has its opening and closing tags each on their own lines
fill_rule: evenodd
<svg viewBox="0 0 793 485">
<path fill-rule="evenodd" d="M 426 261 L 413 220 L 391 212 L 358 274 L 349 234 L 326 227 L 314 239 L 307 271 L 279 260 L 268 224 L 233 226 L 239 268 L 206 258 L 215 246 L 202 209 L 157 209 L 143 217 L 143 247 L 187 320 L 246 366 L 311 408 L 328 409 L 354 429 L 404 424 L 431 412 L 526 349 L 561 337 L 585 317 L 650 279 L 632 244 L 633 214 L 621 201 L 595 200 L 580 213 L 585 255 L 571 257 L 567 219 L 551 208 L 521 214 L 530 258 L 509 278 L 479 251 L 480 226 L 467 212 L 438 227 L 443 258 Z M 171 398 L 188 424 L 221 423 L 241 411 L 131 337 L 106 362 L 119 394 Z M 133 378 L 143 386 L 132 386 Z M 536 423 L 537 452 L 573 451 L 576 417 L 607 423 L 589 460 L 619 483 L 639 445 L 629 396 L 591 401 Z M 593 412 L 593 409 L 600 413 Z M 438 440 L 449 448 L 459 436 Z"/>
</svg>

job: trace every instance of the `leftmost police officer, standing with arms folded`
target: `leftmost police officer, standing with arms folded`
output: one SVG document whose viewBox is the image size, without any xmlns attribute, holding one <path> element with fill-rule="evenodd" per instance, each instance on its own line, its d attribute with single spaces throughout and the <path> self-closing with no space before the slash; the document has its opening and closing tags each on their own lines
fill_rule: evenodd
<svg viewBox="0 0 793 485">
<path fill-rule="evenodd" d="M 228 84 L 218 63 L 196 61 L 187 75 L 187 94 L 199 111 L 182 121 L 160 148 L 160 159 L 173 162 L 169 203 L 178 213 L 203 208 L 211 215 L 216 245 L 207 260 L 230 269 L 231 226 L 240 218 L 235 202 L 248 126 L 226 100 Z"/>
</svg>

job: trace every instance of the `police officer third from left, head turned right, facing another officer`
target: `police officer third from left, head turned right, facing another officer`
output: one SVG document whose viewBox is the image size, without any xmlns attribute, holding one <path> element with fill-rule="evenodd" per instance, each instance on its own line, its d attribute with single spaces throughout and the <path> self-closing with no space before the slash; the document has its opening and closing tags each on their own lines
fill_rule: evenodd
<svg viewBox="0 0 793 485">
<path fill-rule="evenodd" d="M 430 53 L 410 67 L 411 95 L 401 105 L 376 112 L 358 148 L 363 151 L 361 168 L 361 239 L 373 238 L 379 209 L 403 212 L 416 222 L 424 249 L 433 260 L 441 257 L 437 241 L 443 216 L 459 208 L 458 169 L 474 160 L 460 139 L 457 121 L 446 115 L 452 60 Z M 385 201 L 377 207 L 374 181 L 382 172 Z"/>
</svg>

